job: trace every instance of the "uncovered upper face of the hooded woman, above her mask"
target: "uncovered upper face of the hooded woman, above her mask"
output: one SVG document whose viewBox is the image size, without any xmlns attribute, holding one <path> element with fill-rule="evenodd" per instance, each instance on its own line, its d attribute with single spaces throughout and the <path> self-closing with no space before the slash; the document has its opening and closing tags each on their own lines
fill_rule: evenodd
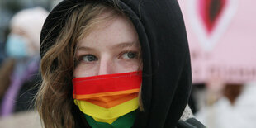
<svg viewBox="0 0 256 128">
<path fill-rule="evenodd" d="M 102 21 L 78 41 L 73 77 L 138 71 L 139 52 L 137 32 L 126 17 Z"/>
</svg>

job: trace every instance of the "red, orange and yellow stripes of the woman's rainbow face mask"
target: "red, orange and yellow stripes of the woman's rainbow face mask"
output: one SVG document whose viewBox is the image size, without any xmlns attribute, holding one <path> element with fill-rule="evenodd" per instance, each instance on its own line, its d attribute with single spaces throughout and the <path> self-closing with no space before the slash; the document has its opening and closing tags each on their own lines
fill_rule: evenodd
<svg viewBox="0 0 256 128">
<path fill-rule="evenodd" d="M 74 102 L 95 121 L 111 124 L 139 107 L 141 82 L 141 71 L 73 78 Z"/>
</svg>

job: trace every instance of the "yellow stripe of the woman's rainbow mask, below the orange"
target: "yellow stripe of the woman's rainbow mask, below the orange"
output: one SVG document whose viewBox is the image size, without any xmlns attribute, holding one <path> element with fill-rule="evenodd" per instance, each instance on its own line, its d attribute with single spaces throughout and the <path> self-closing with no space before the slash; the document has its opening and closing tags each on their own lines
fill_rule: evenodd
<svg viewBox="0 0 256 128">
<path fill-rule="evenodd" d="M 124 116 L 130 111 L 135 111 L 139 107 L 138 97 L 111 108 L 99 107 L 91 102 L 79 101 L 76 99 L 74 102 L 78 105 L 80 111 L 83 111 L 83 113 L 88 116 L 92 116 L 95 121 L 106 122 L 109 124 L 116 121 L 118 117 Z"/>
</svg>

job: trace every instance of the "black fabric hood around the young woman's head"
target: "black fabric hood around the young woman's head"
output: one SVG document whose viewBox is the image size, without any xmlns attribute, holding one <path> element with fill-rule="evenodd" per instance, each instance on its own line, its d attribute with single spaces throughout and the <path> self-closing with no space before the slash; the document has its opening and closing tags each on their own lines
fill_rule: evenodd
<svg viewBox="0 0 256 128">
<path fill-rule="evenodd" d="M 77 2 L 111 0 L 64 0 L 47 17 L 40 36 L 41 57 L 59 35 L 66 13 Z M 142 102 L 134 127 L 175 127 L 191 90 L 191 64 L 187 34 L 177 0 L 120 0 L 121 11 L 133 22 L 143 56 Z M 62 24 L 63 23 L 63 24 Z M 52 31 L 53 26 L 56 26 Z M 46 38 L 47 36 L 47 39 Z M 42 41 L 45 40 L 44 44 Z"/>
</svg>

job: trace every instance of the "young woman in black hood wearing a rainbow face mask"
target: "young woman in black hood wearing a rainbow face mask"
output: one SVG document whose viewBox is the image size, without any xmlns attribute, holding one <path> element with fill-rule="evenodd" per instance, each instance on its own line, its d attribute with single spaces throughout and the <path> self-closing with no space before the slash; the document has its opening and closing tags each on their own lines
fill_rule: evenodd
<svg viewBox="0 0 256 128">
<path fill-rule="evenodd" d="M 177 1 L 64 0 L 40 39 L 45 127 L 202 126 Z"/>
</svg>

